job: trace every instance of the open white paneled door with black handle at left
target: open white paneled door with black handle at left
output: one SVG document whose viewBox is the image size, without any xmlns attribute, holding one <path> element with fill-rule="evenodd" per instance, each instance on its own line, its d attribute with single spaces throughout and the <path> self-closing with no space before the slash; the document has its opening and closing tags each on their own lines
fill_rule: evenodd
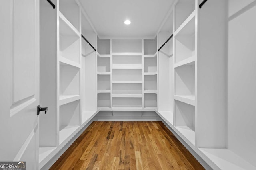
<svg viewBox="0 0 256 170">
<path fill-rule="evenodd" d="M 0 161 L 38 169 L 38 105 L 39 0 L 1 0 Z"/>
</svg>

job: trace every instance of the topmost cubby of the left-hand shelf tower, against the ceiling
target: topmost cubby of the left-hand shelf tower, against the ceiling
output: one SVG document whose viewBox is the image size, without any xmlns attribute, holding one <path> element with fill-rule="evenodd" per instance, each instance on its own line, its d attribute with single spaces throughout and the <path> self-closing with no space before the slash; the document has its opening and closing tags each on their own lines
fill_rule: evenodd
<svg viewBox="0 0 256 170">
<path fill-rule="evenodd" d="M 60 12 L 70 21 L 70 23 L 79 31 L 80 14 L 79 6 L 74 0 L 60 0 Z"/>
</svg>

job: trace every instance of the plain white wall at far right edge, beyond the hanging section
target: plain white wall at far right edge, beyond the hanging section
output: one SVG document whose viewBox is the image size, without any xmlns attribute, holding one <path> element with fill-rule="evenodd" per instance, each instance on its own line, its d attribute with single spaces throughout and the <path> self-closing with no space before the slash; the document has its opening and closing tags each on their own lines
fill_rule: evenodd
<svg viewBox="0 0 256 170">
<path fill-rule="evenodd" d="M 256 166 L 256 1 L 228 1 L 228 148 Z"/>
</svg>

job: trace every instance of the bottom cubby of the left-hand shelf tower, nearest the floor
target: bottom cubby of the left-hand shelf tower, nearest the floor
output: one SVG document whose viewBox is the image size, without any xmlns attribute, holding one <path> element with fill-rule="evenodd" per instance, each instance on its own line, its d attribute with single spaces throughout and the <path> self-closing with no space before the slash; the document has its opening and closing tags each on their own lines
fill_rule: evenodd
<svg viewBox="0 0 256 170">
<path fill-rule="evenodd" d="M 79 127 L 80 100 L 60 106 L 60 144 Z"/>
</svg>

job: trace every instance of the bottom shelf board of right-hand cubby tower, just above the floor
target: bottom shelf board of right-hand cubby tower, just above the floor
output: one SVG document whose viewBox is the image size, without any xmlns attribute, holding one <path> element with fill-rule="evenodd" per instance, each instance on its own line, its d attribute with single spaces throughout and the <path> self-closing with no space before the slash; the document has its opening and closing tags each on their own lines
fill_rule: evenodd
<svg viewBox="0 0 256 170">
<path fill-rule="evenodd" d="M 194 148 L 196 143 L 195 131 L 193 131 L 187 126 L 176 126 L 175 128 L 185 137 L 185 139 L 183 138 L 184 141 L 186 141 L 188 144 L 192 144 L 190 146 Z"/>
</svg>

